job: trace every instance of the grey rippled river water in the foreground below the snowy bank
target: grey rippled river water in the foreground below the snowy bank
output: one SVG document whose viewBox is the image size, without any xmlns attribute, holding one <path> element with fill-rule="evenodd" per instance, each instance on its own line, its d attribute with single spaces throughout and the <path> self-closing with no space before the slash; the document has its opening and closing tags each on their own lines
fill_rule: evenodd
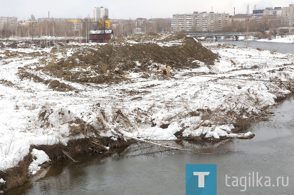
<svg viewBox="0 0 294 195">
<path fill-rule="evenodd" d="M 237 42 L 234 41 L 234 44 Z M 293 47 L 293 44 L 290 45 Z M 262 48 L 261 45 L 258 47 Z M 217 164 L 217 194 L 220 195 L 294 194 L 293 104 L 294 100 L 289 99 L 271 107 L 275 116 L 270 121 L 260 122 L 249 129 L 255 134 L 253 139 L 230 139 L 207 144 L 201 153 L 210 154 L 144 154 L 146 148 L 138 149 L 138 146 L 145 146 L 134 144 L 128 148 L 120 148 L 113 154 L 76 157 L 80 160 L 76 164 L 52 165 L 40 176 L 4 195 L 185 194 L 186 164 Z M 263 177 L 263 187 L 252 187 L 252 183 L 249 187 L 247 183 L 244 191 L 244 186 L 232 186 L 232 177 L 249 178 L 253 172 L 255 176 L 258 172 L 258 178 Z M 226 175 L 230 177 L 227 183 Z M 264 186 L 268 180 L 265 177 L 271 179 L 270 187 Z M 279 179 L 279 186 L 276 185 L 278 177 L 284 178 L 283 183 Z M 256 178 L 254 182 L 256 183 Z"/>
</svg>

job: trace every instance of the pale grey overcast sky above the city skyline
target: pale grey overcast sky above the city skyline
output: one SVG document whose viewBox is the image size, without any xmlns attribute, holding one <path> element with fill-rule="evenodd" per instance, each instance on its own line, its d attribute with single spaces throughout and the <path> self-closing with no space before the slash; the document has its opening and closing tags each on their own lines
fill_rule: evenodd
<svg viewBox="0 0 294 195">
<path fill-rule="evenodd" d="M 31 14 L 36 18 L 85 18 L 93 17 L 94 7 L 106 7 L 109 18 L 136 19 L 136 18 L 172 18 L 172 14 L 193 13 L 193 11 L 226 12 L 230 15 L 246 14 L 247 5 L 252 13 L 256 9 L 266 7 L 287 7 L 294 0 L 1 0 L 0 16 L 18 17 L 18 20 L 27 20 Z"/>
</svg>

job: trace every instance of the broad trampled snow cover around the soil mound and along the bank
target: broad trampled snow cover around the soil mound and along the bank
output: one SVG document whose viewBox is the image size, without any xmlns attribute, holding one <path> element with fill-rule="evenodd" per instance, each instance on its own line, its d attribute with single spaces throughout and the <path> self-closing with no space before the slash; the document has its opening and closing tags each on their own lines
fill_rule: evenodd
<svg viewBox="0 0 294 195">
<path fill-rule="evenodd" d="M 166 46 L 171 44 L 179 42 L 165 43 Z M 201 108 L 238 113 L 246 107 L 250 112 L 258 113 L 261 108 L 275 104 L 277 97 L 290 93 L 279 82 L 213 77 L 289 81 L 294 78 L 293 54 L 227 45 L 219 47 L 219 44 L 224 43 L 202 44 L 220 56 L 215 65 L 199 61 L 196 62 L 200 65 L 197 69 L 173 70 L 174 78 L 170 79 L 158 79 L 154 74 L 148 78 L 141 77 L 145 72 L 138 72 L 130 73 L 132 78 L 122 83 L 86 86 L 58 78 L 79 92 L 53 91 L 33 79 L 19 79 L 18 67 L 28 66 L 30 71 L 41 57 L 23 55 L 24 57 L 6 59 L 3 51 L 0 51 L 0 170 L 17 166 L 29 153 L 31 146 L 57 143 L 66 145 L 68 140 L 86 137 L 83 132 L 72 134 L 70 131 L 71 127 L 79 128 L 78 124 L 72 122 L 76 119 L 91 124 L 99 130 L 100 136 L 111 137 L 114 141 L 117 140 L 112 133 L 115 129 L 128 136 L 148 140 L 175 140 L 174 133 L 183 127 L 183 136 L 238 136 L 231 133 L 234 129 L 232 124 L 216 125 L 213 118 L 203 120 L 201 116 L 192 116 L 191 111 L 197 113 L 196 110 Z M 28 53 L 50 50 L 45 48 L 18 51 Z M 73 52 L 75 48 L 68 48 L 60 57 Z M 139 62 L 136 64 L 144 66 Z M 34 74 L 45 80 L 56 79 L 42 74 L 41 71 Z M 200 77 L 201 75 L 211 77 Z M 98 103 L 100 106 L 97 106 Z M 123 126 L 121 121 L 115 119 L 114 115 L 119 110 L 128 116 L 130 126 Z M 105 129 L 102 128 L 101 121 L 97 120 L 97 116 L 102 116 L 102 111 Z M 222 112 L 218 114 L 222 117 Z M 177 117 L 173 119 L 173 116 Z M 156 124 L 153 127 L 151 119 Z M 169 125 L 161 128 L 162 124 Z M 38 165 L 49 158 L 41 151 L 33 149 L 33 152 L 37 159 L 33 160 L 31 170 L 35 173 Z"/>
</svg>

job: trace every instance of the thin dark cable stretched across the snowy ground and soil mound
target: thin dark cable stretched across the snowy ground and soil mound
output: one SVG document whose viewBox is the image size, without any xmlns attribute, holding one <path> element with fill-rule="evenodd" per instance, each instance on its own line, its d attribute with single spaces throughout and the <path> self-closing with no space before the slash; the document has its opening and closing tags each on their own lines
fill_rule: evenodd
<svg viewBox="0 0 294 195">
<path fill-rule="evenodd" d="M 37 56 L 37 57 L 44 57 L 44 58 L 51 58 L 51 59 L 60 59 L 60 58 L 54 58 L 54 57 L 49 57 L 49 56 L 44 56 L 44 55 L 35 55 L 35 54 L 29 54 L 21 51 L 12 51 L 8 49 L 2 49 L 0 50 L 5 50 L 5 51 L 11 51 L 11 52 L 16 52 L 16 53 L 21 53 L 21 54 L 27 54 L 27 55 L 32 55 L 32 56 Z M 68 59 L 65 61 L 69 61 Z M 98 65 L 98 66 L 106 66 L 109 67 L 108 65 L 102 65 L 102 64 L 96 64 L 92 62 L 86 62 L 86 63 L 91 63 L 92 65 Z M 142 72 L 150 72 L 150 73 L 159 73 L 158 71 L 144 71 L 141 70 Z M 163 74 L 163 73 L 162 73 Z M 171 74 L 171 73 L 169 73 Z M 265 82 L 282 82 L 282 83 L 294 83 L 294 81 L 279 81 L 279 80 L 263 80 L 263 79 L 242 79 L 242 78 L 231 78 L 231 77 L 224 77 L 224 76 L 207 76 L 207 75 L 194 75 L 194 74 L 189 74 L 189 73 L 176 73 L 177 75 L 184 75 L 184 76 L 199 76 L 199 77 L 209 77 L 209 78 L 215 78 L 215 79 L 236 79 L 236 80 L 250 80 L 250 81 L 265 81 Z"/>
</svg>

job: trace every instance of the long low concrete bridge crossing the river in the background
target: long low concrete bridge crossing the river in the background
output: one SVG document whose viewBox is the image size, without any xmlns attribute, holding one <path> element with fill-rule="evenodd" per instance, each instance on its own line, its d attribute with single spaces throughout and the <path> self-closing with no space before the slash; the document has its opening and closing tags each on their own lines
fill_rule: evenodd
<svg viewBox="0 0 294 195">
<path fill-rule="evenodd" d="M 254 33 L 256 32 L 248 32 L 248 35 L 252 36 L 254 35 Z M 215 40 L 217 41 L 219 37 L 224 37 L 224 36 L 231 36 L 232 39 L 238 41 L 240 36 L 244 36 L 247 35 L 247 32 L 226 32 L 226 33 L 189 33 L 189 35 L 191 35 L 192 37 L 204 37 L 204 39 L 206 39 L 206 37 L 214 37 Z"/>
</svg>

